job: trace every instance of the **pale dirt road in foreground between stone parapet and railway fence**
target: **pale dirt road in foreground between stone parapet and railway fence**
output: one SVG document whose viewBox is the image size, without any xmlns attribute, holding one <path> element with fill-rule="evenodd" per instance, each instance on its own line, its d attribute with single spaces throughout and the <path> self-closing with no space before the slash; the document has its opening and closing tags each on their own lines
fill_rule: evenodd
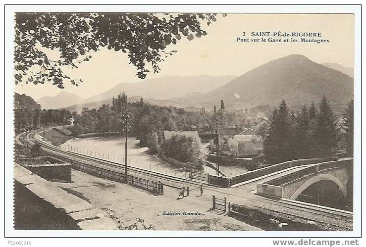
<svg viewBox="0 0 366 247">
<path fill-rule="evenodd" d="M 94 177 L 77 170 L 72 170 L 72 181 L 74 183 L 58 183 L 58 186 L 103 209 L 120 228 L 261 230 L 226 215 L 220 215 L 220 212 L 209 211 L 212 195 L 208 191 L 207 195 L 204 191 L 204 195 L 200 196 L 199 189 L 191 188 L 188 197 L 177 199 L 176 189 L 164 187 L 163 196 L 154 196 L 132 186 Z"/>
</svg>

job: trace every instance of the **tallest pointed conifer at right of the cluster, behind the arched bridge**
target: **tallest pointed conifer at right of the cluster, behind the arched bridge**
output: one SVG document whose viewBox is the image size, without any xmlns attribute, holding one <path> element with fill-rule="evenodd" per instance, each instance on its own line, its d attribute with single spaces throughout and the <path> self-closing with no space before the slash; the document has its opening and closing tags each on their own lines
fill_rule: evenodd
<svg viewBox="0 0 366 247">
<path fill-rule="evenodd" d="M 320 100 L 314 140 L 319 154 L 329 155 L 335 146 L 336 118 L 325 95 Z"/>
</svg>

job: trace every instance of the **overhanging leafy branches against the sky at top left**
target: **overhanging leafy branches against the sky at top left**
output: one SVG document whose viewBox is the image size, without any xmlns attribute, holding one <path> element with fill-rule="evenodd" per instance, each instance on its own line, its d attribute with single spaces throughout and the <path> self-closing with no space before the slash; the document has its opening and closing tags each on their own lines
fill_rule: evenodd
<svg viewBox="0 0 366 247">
<path fill-rule="evenodd" d="M 223 14 L 225 16 L 225 14 Z M 128 54 L 144 79 L 149 63 L 158 73 L 158 63 L 172 55 L 166 51 L 182 37 L 189 41 L 207 35 L 202 23 L 216 21 L 212 13 L 60 13 L 18 12 L 15 15 L 15 83 L 50 82 L 64 88 L 64 81 L 78 86 L 81 79 L 71 79 L 64 67 L 77 68 L 89 61 L 91 51 L 103 47 Z M 59 58 L 50 57 L 39 47 L 58 50 Z M 35 72 L 34 72 L 35 71 Z M 23 80 L 23 76 L 28 77 Z"/>
</svg>

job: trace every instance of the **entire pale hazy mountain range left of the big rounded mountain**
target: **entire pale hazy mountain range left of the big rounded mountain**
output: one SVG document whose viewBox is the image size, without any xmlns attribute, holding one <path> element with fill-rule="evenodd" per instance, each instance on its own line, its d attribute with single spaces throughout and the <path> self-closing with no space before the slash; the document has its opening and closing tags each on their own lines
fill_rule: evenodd
<svg viewBox="0 0 366 247">
<path fill-rule="evenodd" d="M 113 96 L 126 92 L 128 97 L 150 99 L 151 101 L 164 100 L 163 104 L 171 102 L 170 98 L 186 97 L 189 95 L 207 93 L 225 85 L 235 76 L 163 76 L 138 83 L 120 83 L 112 89 L 84 99 L 75 94 L 61 92 L 51 97 L 45 96 L 37 101 L 42 108 L 58 109 L 78 104 L 96 105 L 96 102 L 109 102 Z M 174 100 L 173 100 L 174 101 Z M 179 102 L 175 102 L 179 104 Z M 110 102 L 109 102 L 110 104 Z M 81 107 L 81 106 L 80 106 Z M 77 108 L 80 108 L 77 106 Z M 75 107 L 74 107 L 75 108 Z"/>
</svg>

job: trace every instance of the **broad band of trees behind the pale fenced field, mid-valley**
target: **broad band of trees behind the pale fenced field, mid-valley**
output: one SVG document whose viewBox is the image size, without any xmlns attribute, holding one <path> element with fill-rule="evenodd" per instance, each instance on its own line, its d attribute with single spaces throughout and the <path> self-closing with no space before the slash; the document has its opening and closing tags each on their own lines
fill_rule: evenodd
<svg viewBox="0 0 366 247">
<path fill-rule="evenodd" d="M 116 131 L 123 134 L 123 115 L 128 114 L 131 135 L 140 138 L 146 145 L 148 136 L 159 134 L 163 130 L 198 130 L 209 132 L 208 113 L 185 111 L 172 106 L 157 106 L 143 102 L 127 102 L 127 96 L 120 94 L 112 99 L 112 104 L 104 104 L 98 110 L 84 108 L 81 114 L 74 118 L 75 135 L 93 132 Z"/>
</svg>

